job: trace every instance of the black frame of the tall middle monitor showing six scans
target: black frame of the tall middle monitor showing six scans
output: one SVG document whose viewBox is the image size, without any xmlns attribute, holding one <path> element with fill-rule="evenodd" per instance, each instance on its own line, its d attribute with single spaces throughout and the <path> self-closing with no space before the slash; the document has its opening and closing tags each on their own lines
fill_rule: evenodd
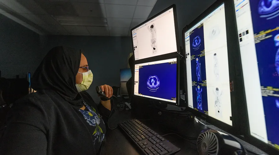
<svg viewBox="0 0 279 155">
<path fill-rule="evenodd" d="M 238 44 L 238 38 L 237 35 L 237 27 L 236 27 L 236 20 L 235 20 L 235 15 L 234 15 L 234 5 L 232 0 L 217 0 L 214 4 L 212 4 L 206 11 L 204 11 L 201 15 L 199 15 L 193 22 L 190 24 L 186 25 L 183 28 L 182 31 L 182 36 L 183 36 L 183 54 L 185 55 L 185 32 L 188 31 L 191 27 L 193 27 L 195 24 L 200 22 L 203 18 L 205 18 L 207 15 L 209 15 L 212 11 L 214 11 L 217 7 L 219 7 L 221 4 L 224 3 L 225 7 L 225 16 L 226 16 L 226 31 L 227 31 L 227 46 L 228 46 L 228 65 L 229 65 L 229 78 L 230 78 L 230 90 L 231 90 L 231 106 L 232 106 L 232 126 L 221 122 L 213 117 L 210 117 L 209 115 L 206 115 L 204 113 L 198 112 L 193 108 L 190 108 L 187 106 L 187 110 L 189 110 L 191 113 L 193 113 L 195 116 L 200 117 L 201 119 L 205 120 L 206 122 L 209 122 L 210 124 L 213 124 L 214 126 L 219 127 L 220 129 L 227 131 L 233 135 L 240 135 L 240 127 L 238 126 L 238 121 L 239 121 L 239 115 L 238 115 L 238 109 L 237 109 L 237 103 L 235 101 L 236 93 L 234 90 L 234 81 L 235 81 L 235 75 L 236 75 L 236 70 L 235 70 L 235 62 L 234 62 L 234 57 L 235 57 L 235 52 L 238 52 L 239 49 L 237 48 Z M 185 57 L 185 56 L 184 56 Z M 186 62 L 186 57 L 185 60 Z M 186 66 L 186 63 L 184 64 Z M 188 93 L 187 89 L 187 73 L 185 73 L 185 92 L 186 96 Z M 188 105 L 188 100 L 185 100 L 185 102 Z"/>
</svg>

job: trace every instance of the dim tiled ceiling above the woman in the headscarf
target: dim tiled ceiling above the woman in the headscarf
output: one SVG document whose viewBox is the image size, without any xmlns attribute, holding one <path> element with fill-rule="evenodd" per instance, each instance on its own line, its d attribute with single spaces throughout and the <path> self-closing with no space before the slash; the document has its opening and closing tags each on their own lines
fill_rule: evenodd
<svg viewBox="0 0 279 155">
<path fill-rule="evenodd" d="M 157 0 L 0 0 L 0 13 L 47 35 L 130 36 Z"/>
</svg>

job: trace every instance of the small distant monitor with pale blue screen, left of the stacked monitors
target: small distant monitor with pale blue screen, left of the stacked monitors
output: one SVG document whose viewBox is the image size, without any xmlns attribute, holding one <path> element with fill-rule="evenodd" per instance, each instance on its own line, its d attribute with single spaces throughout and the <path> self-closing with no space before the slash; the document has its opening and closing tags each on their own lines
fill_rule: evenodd
<svg viewBox="0 0 279 155">
<path fill-rule="evenodd" d="M 131 69 L 120 69 L 120 95 L 128 96 L 127 81 L 132 77 Z"/>
</svg>

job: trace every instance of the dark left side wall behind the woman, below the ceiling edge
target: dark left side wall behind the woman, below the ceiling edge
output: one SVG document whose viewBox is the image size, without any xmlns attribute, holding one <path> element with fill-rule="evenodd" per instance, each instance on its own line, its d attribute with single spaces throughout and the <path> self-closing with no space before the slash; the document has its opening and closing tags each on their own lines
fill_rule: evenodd
<svg viewBox="0 0 279 155">
<path fill-rule="evenodd" d="M 44 37 L 0 14 L 0 70 L 2 77 L 25 78 L 41 62 Z"/>
</svg>

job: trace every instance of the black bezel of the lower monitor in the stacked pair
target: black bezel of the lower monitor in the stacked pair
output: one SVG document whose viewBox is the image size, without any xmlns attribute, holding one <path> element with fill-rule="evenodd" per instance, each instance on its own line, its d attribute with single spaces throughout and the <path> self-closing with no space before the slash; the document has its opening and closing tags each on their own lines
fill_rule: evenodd
<svg viewBox="0 0 279 155">
<path fill-rule="evenodd" d="M 167 59 L 173 59 L 173 58 L 176 58 L 176 60 L 177 60 L 177 65 L 176 65 L 176 103 L 169 102 L 169 101 L 152 99 L 152 98 L 143 97 L 143 96 L 138 96 L 138 95 L 135 95 L 135 91 L 133 92 L 134 97 L 142 98 L 142 99 L 149 99 L 149 100 L 154 100 L 154 101 L 158 101 L 158 102 L 164 102 L 164 103 L 167 103 L 167 104 L 179 106 L 179 97 L 180 97 L 180 94 L 179 94 L 180 56 L 179 55 L 174 55 L 174 56 L 169 56 L 169 57 L 164 57 L 164 58 L 157 58 L 157 59 L 153 59 L 153 60 L 148 61 L 148 62 L 167 60 Z M 136 62 L 134 65 L 148 63 L 148 62 L 140 62 L 140 63 Z M 135 77 L 134 77 L 133 81 L 135 81 Z M 135 85 L 133 85 L 133 86 L 135 87 Z M 134 88 L 134 90 L 135 90 L 135 88 Z"/>
</svg>

